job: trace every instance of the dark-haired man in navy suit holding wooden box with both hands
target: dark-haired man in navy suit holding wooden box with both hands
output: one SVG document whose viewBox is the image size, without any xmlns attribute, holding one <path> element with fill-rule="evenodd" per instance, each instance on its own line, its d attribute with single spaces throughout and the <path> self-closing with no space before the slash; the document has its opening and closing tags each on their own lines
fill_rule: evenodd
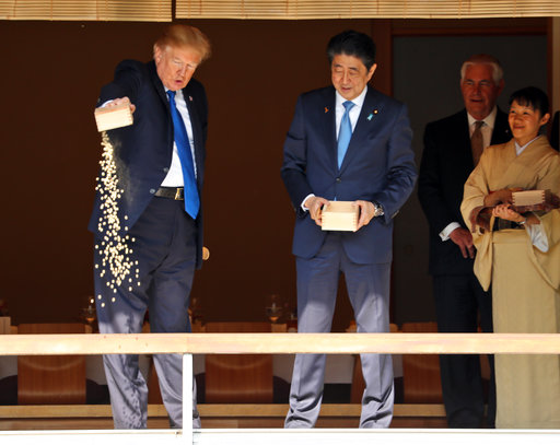
<svg viewBox="0 0 560 445">
<path fill-rule="evenodd" d="M 358 331 L 387 332 L 393 218 L 417 176 L 412 132 L 406 106 L 368 86 L 376 69 L 370 36 L 343 32 L 330 39 L 327 55 L 332 86 L 299 97 L 281 172 L 296 213 L 298 330 L 330 331 L 338 279 L 345 273 Z M 322 231 L 322 208 L 329 200 L 359 207 L 355 232 Z M 394 400 L 392 359 L 361 359 L 365 390 L 360 426 L 387 428 Z M 285 428 L 315 424 L 324 374 L 325 355 L 296 356 Z"/>
</svg>

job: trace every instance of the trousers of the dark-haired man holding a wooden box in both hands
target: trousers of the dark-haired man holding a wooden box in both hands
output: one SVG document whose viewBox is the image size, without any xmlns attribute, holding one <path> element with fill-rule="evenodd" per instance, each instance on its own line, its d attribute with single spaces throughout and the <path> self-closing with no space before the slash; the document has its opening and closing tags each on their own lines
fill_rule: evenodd
<svg viewBox="0 0 560 445">
<path fill-rule="evenodd" d="M 340 235 L 329 233 L 319 253 L 296 259 L 298 331 L 330 332 L 338 279 L 345 273 L 358 332 L 388 332 L 390 264 L 357 265 L 345 253 Z M 317 421 L 325 377 L 324 354 L 298 354 L 285 428 L 312 428 Z M 361 354 L 365 390 L 360 428 L 388 428 L 393 419 L 390 355 Z"/>
</svg>

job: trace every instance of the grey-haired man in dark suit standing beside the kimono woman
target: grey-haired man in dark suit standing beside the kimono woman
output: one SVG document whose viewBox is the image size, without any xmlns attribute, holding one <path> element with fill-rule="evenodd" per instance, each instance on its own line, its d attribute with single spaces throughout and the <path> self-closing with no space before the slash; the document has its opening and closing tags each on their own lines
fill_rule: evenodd
<svg viewBox="0 0 560 445">
<path fill-rule="evenodd" d="M 483 148 L 511 139 L 508 115 L 495 106 L 503 70 L 494 57 L 476 55 L 460 70 L 462 112 L 425 127 L 418 196 L 430 225 L 430 273 L 433 276 L 440 332 L 476 332 L 478 314 L 492 331 L 492 298 L 474 272 L 472 236 L 459 212 L 463 186 Z M 495 417 L 493 358 L 490 356 L 487 426 Z M 478 355 L 441 355 L 443 399 L 450 428 L 483 424 L 483 390 Z"/>
</svg>

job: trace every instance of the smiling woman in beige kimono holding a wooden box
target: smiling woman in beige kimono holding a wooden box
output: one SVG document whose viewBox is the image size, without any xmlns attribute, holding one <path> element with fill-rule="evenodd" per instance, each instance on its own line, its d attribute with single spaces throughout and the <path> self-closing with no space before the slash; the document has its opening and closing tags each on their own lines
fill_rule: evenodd
<svg viewBox="0 0 560 445">
<path fill-rule="evenodd" d="M 512 191 L 560 192 L 560 155 L 539 136 L 550 115 L 535 87 L 510 98 L 513 139 L 487 148 L 460 210 L 477 248 L 475 273 L 492 284 L 494 332 L 560 331 L 560 210 L 517 213 Z M 495 356 L 497 428 L 560 428 L 560 358 Z"/>
</svg>

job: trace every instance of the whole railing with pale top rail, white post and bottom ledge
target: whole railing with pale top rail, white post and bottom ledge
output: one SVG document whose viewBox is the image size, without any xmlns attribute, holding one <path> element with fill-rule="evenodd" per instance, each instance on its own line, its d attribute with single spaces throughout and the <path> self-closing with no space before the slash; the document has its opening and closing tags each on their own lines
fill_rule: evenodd
<svg viewBox="0 0 560 445">
<path fill-rule="evenodd" d="M 0 338 L 0 355 L 72 355 L 72 354 L 147 354 L 180 353 L 183 361 L 183 431 L 81 431 L 81 432 L 4 432 L 2 442 L 26 443 L 42 434 L 44 443 L 73 443 L 77 434 L 81 445 L 97 443 L 165 443 L 236 444 L 285 443 L 329 444 L 347 441 L 369 443 L 376 434 L 376 444 L 402 443 L 421 432 L 432 443 L 465 441 L 509 444 L 558 443 L 560 431 L 465 431 L 465 430 L 197 430 L 192 431 L 192 354 L 292 354 L 292 353 L 396 353 L 396 354 L 560 354 L 559 333 L 139 333 L 139 335 L 18 335 Z M 270 435 L 271 432 L 275 434 Z M 340 435 L 342 434 L 345 435 Z M 240 434 L 241 433 L 241 434 Z M 457 434 L 460 434 L 457 436 Z M 288 435 L 288 436 L 287 436 Z M 476 435 L 477 437 L 472 437 Z M 430 436 L 430 437 L 428 437 Z M 7 442 L 7 440 L 9 440 Z M 460 443 L 460 441 L 459 441 Z"/>
</svg>

